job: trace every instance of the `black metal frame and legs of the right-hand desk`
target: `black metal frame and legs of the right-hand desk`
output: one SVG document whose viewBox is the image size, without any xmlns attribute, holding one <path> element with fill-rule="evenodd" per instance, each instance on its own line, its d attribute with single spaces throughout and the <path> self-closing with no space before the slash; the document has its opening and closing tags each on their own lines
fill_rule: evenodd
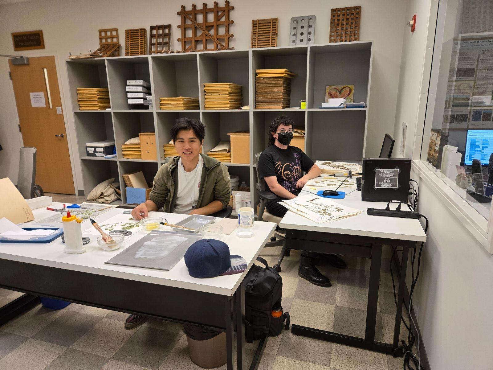
<svg viewBox="0 0 493 370">
<path fill-rule="evenodd" d="M 291 325 L 291 333 L 345 344 L 352 347 L 367 349 L 374 352 L 402 356 L 402 354 L 397 353 L 398 351 L 395 351 L 395 349 L 399 347 L 402 302 L 406 285 L 405 279 L 409 249 L 415 248 L 416 244 L 417 242 L 409 240 L 286 229 L 286 249 L 295 249 L 306 252 L 330 253 L 341 256 L 362 257 L 371 259 L 364 338 L 345 335 L 341 333 L 333 333 L 314 328 L 307 328 L 295 324 Z M 402 267 L 399 275 L 397 307 L 394 323 L 394 337 L 392 344 L 375 341 L 378 290 L 380 284 L 380 268 L 383 245 L 395 245 L 402 247 Z"/>
</svg>

